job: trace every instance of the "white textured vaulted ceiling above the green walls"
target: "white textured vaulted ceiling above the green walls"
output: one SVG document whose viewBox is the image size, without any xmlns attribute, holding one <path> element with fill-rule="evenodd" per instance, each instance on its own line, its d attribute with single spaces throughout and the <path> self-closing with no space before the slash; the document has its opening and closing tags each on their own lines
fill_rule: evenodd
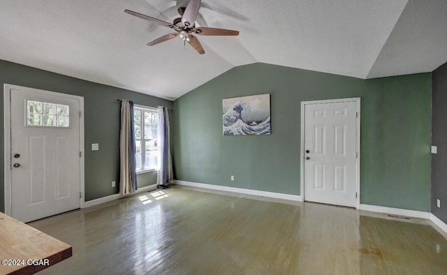
<svg viewBox="0 0 447 275">
<path fill-rule="evenodd" d="M 203 0 L 205 55 L 124 9 L 172 22 L 189 0 L 1 0 L 0 59 L 176 99 L 234 66 L 264 62 L 378 78 L 447 62 L 445 0 Z"/>
</svg>

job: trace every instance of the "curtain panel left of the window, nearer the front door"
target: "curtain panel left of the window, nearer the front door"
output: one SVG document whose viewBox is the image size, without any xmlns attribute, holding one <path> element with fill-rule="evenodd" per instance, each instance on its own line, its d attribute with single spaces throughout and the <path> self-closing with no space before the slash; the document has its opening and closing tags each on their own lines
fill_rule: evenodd
<svg viewBox="0 0 447 275">
<path fill-rule="evenodd" d="M 133 132 L 133 102 L 121 101 L 121 129 L 119 131 L 119 194 L 137 190 L 135 166 L 135 136 Z"/>
</svg>

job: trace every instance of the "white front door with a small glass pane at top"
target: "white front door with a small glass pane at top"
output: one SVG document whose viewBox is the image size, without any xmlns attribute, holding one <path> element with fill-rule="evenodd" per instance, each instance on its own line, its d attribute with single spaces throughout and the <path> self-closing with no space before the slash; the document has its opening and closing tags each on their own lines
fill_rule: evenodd
<svg viewBox="0 0 447 275">
<path fill-rule="evenodd" d="M 10 92 L 10 212 L 27 223 L 80 208 L 80 97 Z"/>
</svg>

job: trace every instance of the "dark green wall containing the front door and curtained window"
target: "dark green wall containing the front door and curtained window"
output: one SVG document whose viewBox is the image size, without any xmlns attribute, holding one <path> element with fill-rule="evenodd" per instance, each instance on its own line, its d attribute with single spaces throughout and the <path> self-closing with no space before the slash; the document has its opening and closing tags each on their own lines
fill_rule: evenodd
<svg viewBox="0 0 447 275">
<path fill-rule="evenodd" d="M 129 99 L 147 106 L 173 108 L 173 102 L 150 97 L 138 92 L 91 83 L 50 73 L 29 66 L 0 60 L 0 83 L 32 87 L 52 92 L 75 94 L 84 97 L 85 111 L 85 201 L 106 197 L 119 192 L 119 115 L 121 105 L 117 99 Z M 3 90 L 3 87 L 2 87 Z M 4 166 L 3 96 L 0 97 L 0 165 Z M 91 143 L 99 143 L 99 151 L 91 151 Z M 0 169 L 0 177 L 4 171 Z M 156 173 L 140 174 L 138 186 L 156 183 Z M 4 211 L 4 184 L 0 183 L 0 211 Z"/>
</svg>

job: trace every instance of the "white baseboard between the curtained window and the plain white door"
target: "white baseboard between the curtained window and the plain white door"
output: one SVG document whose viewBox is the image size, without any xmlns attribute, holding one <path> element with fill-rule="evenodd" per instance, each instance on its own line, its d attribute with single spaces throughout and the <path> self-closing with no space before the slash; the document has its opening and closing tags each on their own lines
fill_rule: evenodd
<svg viewBox="0 0 447 275">
<path fill-rule="evenodd" d="M 261 197 L 272 197 L 275 199 L 287 199 L 289 201 L 302 202 L 301 196 L 298 196 L 298 195 L 288 195 L 288 194 L 282 194 L 282 193 L 251 190 L 251 189 L 244 189 L 244 188 L 235 188 L 235 187 L 212 185 L 212 184 L 205 184 L 205 183 L 193 183 L 191 181 L 177 181 L 176 180 L 176 181 L 173 181 L 173 183 L 175 183 L 177 185 L 185 185 L 185 186 L 191 186 L 191 187 L 196 187 L 196 188 L 204 188 L 204 189 L 219 190 L 219 191 L 261 196 Z"/>
</svg>

